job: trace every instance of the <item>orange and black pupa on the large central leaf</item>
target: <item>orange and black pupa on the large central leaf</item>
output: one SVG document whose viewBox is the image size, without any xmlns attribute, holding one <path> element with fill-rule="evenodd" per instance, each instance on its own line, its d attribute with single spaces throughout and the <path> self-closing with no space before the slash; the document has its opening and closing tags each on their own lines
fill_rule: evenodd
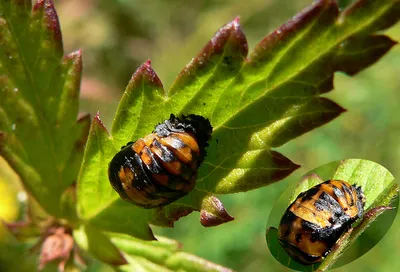
<svg viewBox="0 0 400 272">
<path fill-rule="evenodd" d="M 171 114 L 151 134 L 129 142 L 114 156 L 108 168 L 112 187 L 143 208 L 185 196 L 196 185 L 211 133 L 210 122 L 202 116 Z"/>
</svg>

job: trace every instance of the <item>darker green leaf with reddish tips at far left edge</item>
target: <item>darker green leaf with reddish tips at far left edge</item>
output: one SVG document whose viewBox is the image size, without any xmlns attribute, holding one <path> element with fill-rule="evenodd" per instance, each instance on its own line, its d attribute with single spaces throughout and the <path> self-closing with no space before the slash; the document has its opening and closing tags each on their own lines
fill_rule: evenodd
<svg viewBox="0 0 400 272">
<path fill-rule="evenodd" d="M 77 122 L 82 53 L 64 56 L 51 0 L 0 1 L 0 155 L 50 214 L 76 181 L 89 128 Z"/>
</svg>

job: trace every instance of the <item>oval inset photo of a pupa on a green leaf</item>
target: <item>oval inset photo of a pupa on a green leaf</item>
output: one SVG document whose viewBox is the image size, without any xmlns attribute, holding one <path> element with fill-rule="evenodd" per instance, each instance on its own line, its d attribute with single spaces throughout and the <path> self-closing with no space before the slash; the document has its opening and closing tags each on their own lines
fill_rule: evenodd
<svg viewBox="0 0 400 272">
<path fill-rule="evenodd" d="M 346 159 L 322 165 L 290 186 L 267 223 L 271 254 L 299 271 L 326 271 L 361 257 L 392 225 L 399 186 L 383 166 Z"/>
</svg>

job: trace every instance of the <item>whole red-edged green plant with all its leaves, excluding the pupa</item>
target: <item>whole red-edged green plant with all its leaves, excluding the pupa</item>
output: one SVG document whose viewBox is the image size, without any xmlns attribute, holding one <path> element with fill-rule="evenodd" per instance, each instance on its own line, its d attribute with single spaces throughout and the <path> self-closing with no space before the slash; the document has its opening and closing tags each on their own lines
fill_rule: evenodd
<svg viewBox="0 0 400 272">
<path fill-rule="evenodd" d="M 334 1 L 317 1 L 264 38 L 248 59 L 235 19 L 167 93 L 150 62 L 139 67 L 109 135 L 99 115 L 90 131 L 88 115 L 76 122 L 81 51 L 63 56 L 52 1 L 38 0 L 32 9 L 30 0 L 2 0 L 0 154 L 31 200 L 26 221 L 7 226 L 20 239 L 38 237 L 40 267 L 83 265 L 83 249 L 121 270 L 228 271 L 179 252 L 169 240 L 144 241 L 155 239 L 148 224 L 173 226 L 193 210 L 201 211 L 205 226 L 230 221 L 214 194 L 266 186 L 294 171 L 298 166 L 271 148 L 343 112 L 319 95 L 333 88 L 335 71 L 355 74 L 395 44 L 374 33 L 399 19 L 399 6 L 360 0 L 339 14 Z M 214 140 L 187 197 L 140 209 L 112 190 L 107 164 L 120 146 L 148 134 L 171 112 L 208 117 Z M 43 210 L 33 208 L 37 204 Z"/>
</svg>

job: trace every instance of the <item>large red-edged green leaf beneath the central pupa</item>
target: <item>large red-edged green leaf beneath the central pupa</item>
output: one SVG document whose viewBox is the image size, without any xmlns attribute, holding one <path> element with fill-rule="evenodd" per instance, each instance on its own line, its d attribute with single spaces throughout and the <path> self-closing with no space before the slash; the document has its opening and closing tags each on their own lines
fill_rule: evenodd
<svg viewBox="0 0 400 272">
<path fill-rule="evenodd" d="M 168 92 L 150 62 L 144 63 L 121 99 L 111 135 L 89 136 L 89 143 L 98 137 L 107 140 L 98 147 L 89 144 L 85 152 L 78 185 L 81 216 L 92 220 L 101 213 L 97 227 L 104 228 L 112 221 L 114 229 L 124 229 L 125 233 L 129 232 L 129 220 L 131 226 L 144 226 L 149 221 L 173 226 L 193 210 L 201 211 L 202 223 L 207 226 L 231 220 L 222 203 L 210 199 L 215 194 L 269 185 L 298 168 L 272 148 L 328 123 L 344 111 L 320 95 L 333 89 L 334 72 L 355 74 L 390 50 L 395 42 L 375 32 L 397 22 L 399 9 L 400 3 L 394 0 L 379 4 L 359 0 L 339 12 L 333 0 L 315 1 L 261 40 L 249 57 L 236 18 L 217 31 Z M 196 188 L 168 206 L 142 211 L 135 220 L 133 216 L 127 219 L 128 208 L 124 214 L 115 209 L 120 207 L 115 202 L 121 200 L 109 186 L 108 162 L 126 142 L 151 133 L 171 113 L 203 115 L 214 128 Z M 92 171 L 96 174 L 88 173 Z M 93 197 L 101 200 L 88 200 Z M 130 212 L 138 211 L 132 205 Z"/>
</svg>

